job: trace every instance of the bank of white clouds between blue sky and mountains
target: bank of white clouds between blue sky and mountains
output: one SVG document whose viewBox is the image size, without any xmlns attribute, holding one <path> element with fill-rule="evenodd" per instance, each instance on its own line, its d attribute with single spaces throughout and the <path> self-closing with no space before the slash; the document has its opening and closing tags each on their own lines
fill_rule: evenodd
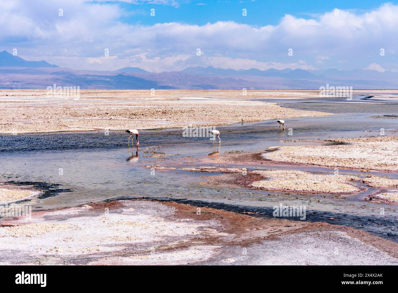
<svg viewBox="0 0 398 293">
<path fill-rule="evenodd" d="M 2 0 L 0 50 L 15 47 L 23 58 L 45 59 L 72 68 L 142 66 L 162 71 L 201 64 L 235 69 L 314 69 L 302 60 L 319 65 L 328 60 L 331 66 L 351 64 L 352 68 L 375 63 L 382 69 L 398 47 L 398 6 L 392 4 L 362 14 L 339 10 L 337 16 L 331 11 L 313 19 L 285 15 L 278 25 L 257 27 L 234 21 L 130 24 L 121 21 L 131 12 L 123 10 L 119 2 Z M 122 2 L 177 6 L 185 1 Z M 59 8 L 64 16 L 58 15 Z M 113 58 L 105 59 L 106 48 Z M 205 52 L 200 58 L 197 48 Z M 289 48 L 293 56 L 288 56 Z M 380 48 L 386 56 L 380 57 Z"/>
</svg>

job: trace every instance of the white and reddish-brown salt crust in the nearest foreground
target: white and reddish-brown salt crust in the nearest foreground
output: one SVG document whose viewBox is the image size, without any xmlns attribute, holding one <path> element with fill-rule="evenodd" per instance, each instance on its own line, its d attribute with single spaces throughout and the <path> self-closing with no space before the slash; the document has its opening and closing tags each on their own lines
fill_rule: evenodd
<svg viewBox="0 0 398 293">
<path fill-rule="evenodd" d="M 356 229 L 199 211 L 119 200 L 3 218 L 0 264 L 398 264 L 398 244 Z"/>
</svg>

